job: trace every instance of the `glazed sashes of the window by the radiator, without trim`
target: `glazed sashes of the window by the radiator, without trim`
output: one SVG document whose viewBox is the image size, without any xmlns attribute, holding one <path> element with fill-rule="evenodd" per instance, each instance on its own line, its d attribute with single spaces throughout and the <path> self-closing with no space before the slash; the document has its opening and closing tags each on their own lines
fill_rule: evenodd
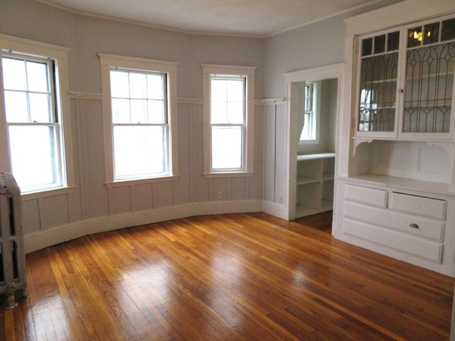
<svg viewBox="0 0 455 341">
<path fill-rule="evenodd" d="M 54 60 L 2 51 L 1 61 L 11 173 L 23 194 L 61 188 Z"/>
</svg>

